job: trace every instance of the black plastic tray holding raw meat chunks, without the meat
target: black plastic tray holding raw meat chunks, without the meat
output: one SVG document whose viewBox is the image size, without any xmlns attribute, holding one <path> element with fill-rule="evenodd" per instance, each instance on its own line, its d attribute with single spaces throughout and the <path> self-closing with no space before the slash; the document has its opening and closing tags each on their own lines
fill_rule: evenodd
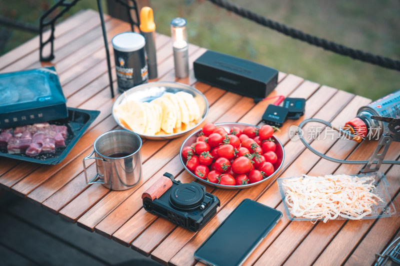
<svg viewBox="0 0 400 266">
<path fill-rule="evenodd" d="M 67 118 L 48 121 L 50 124 L 64 125 L 68 128 L 65 147 L 55 148 L 54 153 L 43 153 L 34 157 L 29 157 L 25 154 L 9 154 L 6 149 L 0 149 L 0 156 L 38 164 L 58 164 L 68 155 L 69 151 L 99 113 L 100 111 L 68 107 Z"/>
</svg>

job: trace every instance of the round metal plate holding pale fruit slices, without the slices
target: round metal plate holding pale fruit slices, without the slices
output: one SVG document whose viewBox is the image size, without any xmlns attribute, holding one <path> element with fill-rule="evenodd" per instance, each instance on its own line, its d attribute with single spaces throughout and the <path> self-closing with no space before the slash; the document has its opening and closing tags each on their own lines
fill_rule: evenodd
<svg viewBox="0 0 400 266">
<path fill-rule="evenodd" d="M 196 128 L 199 124 L 201 124 L 201 122 L 204 120 L 205 116 L 208 113 L 208 101 L 205 98 L 204 94 L 202 94 L 199 90 L 186 84 L 181 84 L 177 82 L 154 81 L 135 86 L 125 91 L 115 99 L 114 103 L 112 104 L 112 112 L 111 112 L 112 117 L 121 128 L 130 130 L 124 127 L 120 123 L 118 114 L 115 112 L 116 106 L 118 106 L 119 104 L 123 104 L 128 100 L 134 100 L 137 102 L 150 102 L 155 98 L 161 97 L 166 92 L 176 93 L 178 91 L 187 92 L 193 96 L 194 100 L 198 104 L 198 107 L 200 108 L 200 113 L 202 114 L 201 119 L 194 126 L 173 134 L 165 134 L 165 135 L 138 134 L 138 135 L 140 137 L 152 140 L 174 139 L 180 137 L 185 133 L 191 131 L 192 129 Z"/>
</svg>

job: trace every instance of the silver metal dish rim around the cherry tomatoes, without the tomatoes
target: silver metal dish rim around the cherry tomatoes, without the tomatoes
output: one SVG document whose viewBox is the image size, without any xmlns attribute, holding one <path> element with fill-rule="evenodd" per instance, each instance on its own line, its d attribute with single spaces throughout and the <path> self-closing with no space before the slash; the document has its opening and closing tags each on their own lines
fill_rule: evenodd
<svg viewBox="0 0 400 266">
<path fill-rule="evenodd" d="M 223 127 L 227 132 L 229 132 L 229 129 L 232 128 L 233 126 L 240 128 L 241 130 L 243 130 L 245 127 L 247 126 L 253 126 L 256 128 L 259 128 L 258 126 L 255 125 L 250 125 L 250 124 L 245 124 L 245 123 L 215 123 L 215 126 L 218 127 Z M 278 160 L 273 164 L 273 169 L 275 170 L 270 176 L 255 182 L 255 183 L 251 183 L 251 184 L 247 184 L 247 185 L 239 185 L 239 186 L 228 186 L 228 185 L 219 185 L 219 184 L 215 184 L 209 181 L 206 181 L 204 179 L 201 179 L 199 177 L 197 177 L 195 174 L 193 174 L 193 172 L 191 172 L 185 165 L 185 162 L 182 158 L 182 150 L 184 147 L 186 146 L 190 146 L 191 144 L 193 144 L 194 142 L 196 142 L 196 138 L 198 136 L 198 133 L 200 133 L 201 129 L 196 130 L 195 132 L 191 133 L 182 143 L 182 145 L 180 146 L 180 150 L 179 150 L 179 158 L 180 158 L 180 162 L 182 163 L 184 169 L 186 169 L 187 172 L 190 173 L 190 175 L 192 175 L 193 177 L 197 178 L 198 180 L 200 180 L 201 182 L 206 183 L 207 185 L 213 186 L 213 187 L 217 187 L 217 188 L 221 188 L 221 189 L 245 189 L 245 188 L 249 188 L 252 186 L 256 186 L 262 182 L 265 182 L 266 180 L 270 179 L 271 177 L 273 177 L 278 171 L 279 169 L 282 167 L 283 165 L 283 160 L 284 160 L 284 150 L 283 150 L 283 145 L 282 143 L 280 143 L 280 141 L 275 137 L 272 136 L 271 139 L 274 140 L 275 144 L 276 144 L 276 156 L 278 157 Z"/>
</svg>

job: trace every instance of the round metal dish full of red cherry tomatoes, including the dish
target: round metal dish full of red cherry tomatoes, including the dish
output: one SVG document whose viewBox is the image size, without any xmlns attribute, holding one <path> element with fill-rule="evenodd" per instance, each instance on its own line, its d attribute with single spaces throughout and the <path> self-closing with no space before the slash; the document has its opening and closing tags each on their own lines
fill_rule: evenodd
<svg viewBox="0 0 400 266">
<path fill-rule="evenodd" d="M 282 167 L 284 150 L 274 127 L 244 123 L 206 123 L 179 151 L 184 168 L 198 180 L 224 189 L 258 185 Z"/>
</svg>

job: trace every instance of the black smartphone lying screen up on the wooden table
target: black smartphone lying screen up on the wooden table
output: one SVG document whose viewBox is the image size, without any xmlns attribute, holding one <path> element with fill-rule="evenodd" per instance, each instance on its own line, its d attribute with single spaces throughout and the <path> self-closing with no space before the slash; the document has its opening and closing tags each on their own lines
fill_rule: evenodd
<svg viewBox="0 0 400 266">
<path fill-rule="evenodd" d="M 281 217 L 278 210 L 244 199 L 194 252 L 194 258 L 211 266 L 239 266 Z"/>
</svg>

